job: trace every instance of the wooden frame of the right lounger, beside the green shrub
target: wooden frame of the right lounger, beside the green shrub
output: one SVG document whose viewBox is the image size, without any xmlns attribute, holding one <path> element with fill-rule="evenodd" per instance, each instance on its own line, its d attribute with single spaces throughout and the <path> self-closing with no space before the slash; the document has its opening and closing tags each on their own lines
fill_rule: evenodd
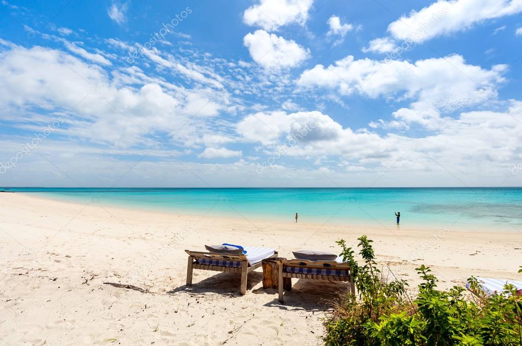
<svg viewBox="0 0 522 346">
<path fill-rule="evenodd" d="M 277 264 L 279 267 L 279 282 L 283 282 L 283 278 L 350 282 L 350 290 L 352 294 L 355 294 L 355 286 L 353 284 L 354 280 L 350 270 L 351 268 L 347 263 L 339 263 L 335 261 L 278 260 Z M 349 270 L 350 275 L 342 276 L 289 273 L 288 271 L 283 270 L 284 267 Z M 283 285 L 279 285 L 279 302 L 283 302 Z"/>
</svg>

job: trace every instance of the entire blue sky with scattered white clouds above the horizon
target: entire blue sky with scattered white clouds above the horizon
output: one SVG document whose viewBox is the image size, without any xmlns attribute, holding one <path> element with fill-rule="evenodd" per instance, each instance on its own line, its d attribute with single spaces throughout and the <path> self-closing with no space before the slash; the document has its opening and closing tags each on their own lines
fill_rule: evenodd
<svg viewBox="0 0 522 346">
<path fill-rule="evenodd" d="M 0 186 L 522 186 L 522 0 L 4 1 Z"/>
</svg>

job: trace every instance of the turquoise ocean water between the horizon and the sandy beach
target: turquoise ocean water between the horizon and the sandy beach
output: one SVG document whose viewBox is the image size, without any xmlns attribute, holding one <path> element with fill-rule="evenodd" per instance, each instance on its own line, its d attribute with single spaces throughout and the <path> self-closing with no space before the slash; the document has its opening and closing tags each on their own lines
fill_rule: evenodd
<svg viewBox="0 0 522 346">
<path fill-rule="evenodd" d="M 522 188 L 9 188 L 56 200 L 252 220 L 522 233 Z"/>
</svg>

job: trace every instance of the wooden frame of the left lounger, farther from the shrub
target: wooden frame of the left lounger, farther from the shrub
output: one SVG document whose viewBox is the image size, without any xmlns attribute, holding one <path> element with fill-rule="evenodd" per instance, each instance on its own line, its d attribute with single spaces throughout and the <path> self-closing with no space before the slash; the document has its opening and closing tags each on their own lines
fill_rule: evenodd
<svg viewBox="0 0 522 346">
<path fill-rule="evenodd" d="M 254 271 L 255 269 L 261 266 L 261 261 L 251 264 L 246 258 L 245 254 L 239 255 L 222 255 L 210 252 L 199 252 L 199 251 L 189 251 L 185 250 L 188 254 L 188 264 L 187 264 L 187 286 L 192 286 L 192 271 L 194 269 L 203 269 L 203 270 L 215 270 L 222 271 L 223 273 L 238 273 L 241 274 L 241 285 L 239 289 L 240 294 L 246 293 L 246 279 L 248 273 Z M 278 257 L 277 251 L 266 258 L 276 258 Z M 226 267 L 226 266 L 217 266 L 211 264 L 200 264 L 197 260 L 219 260 L 219 261 L 237 261 L 241 263 L 240 267 Z M 264 259 L 264 258 L 263 258 Z"/>
</svg>

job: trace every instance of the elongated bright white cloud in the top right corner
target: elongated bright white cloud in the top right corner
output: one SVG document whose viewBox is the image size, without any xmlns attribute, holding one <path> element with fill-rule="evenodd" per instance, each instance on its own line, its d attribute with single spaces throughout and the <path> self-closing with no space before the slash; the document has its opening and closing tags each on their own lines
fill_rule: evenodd
<svg viewBox="0 0 522 346">
<path fill-rule="evenodd" d="M 519 0 L 482 0 L 480 3 L 475 0 L 438 0 L 390 23 L 388 32 L 397 40 L 422 43 L 521 11 L 522 2 Z"/>
</svg>

